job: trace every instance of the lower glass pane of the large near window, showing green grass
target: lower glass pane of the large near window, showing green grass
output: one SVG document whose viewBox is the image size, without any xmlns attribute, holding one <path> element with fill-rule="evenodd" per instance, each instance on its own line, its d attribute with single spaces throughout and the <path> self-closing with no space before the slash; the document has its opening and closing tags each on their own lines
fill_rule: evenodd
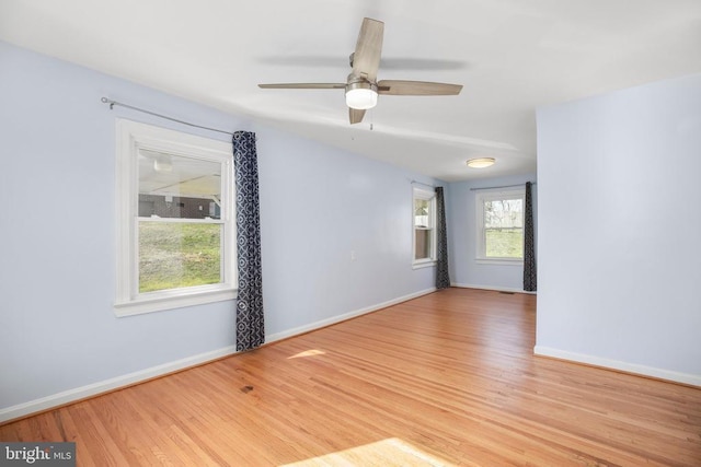
<svg viewBox="0 0 701 467">
<path fill-rule="evenodd" d="M 219 283 L 221 224 L 139 222 L 139 292 Z"/>
</svg>

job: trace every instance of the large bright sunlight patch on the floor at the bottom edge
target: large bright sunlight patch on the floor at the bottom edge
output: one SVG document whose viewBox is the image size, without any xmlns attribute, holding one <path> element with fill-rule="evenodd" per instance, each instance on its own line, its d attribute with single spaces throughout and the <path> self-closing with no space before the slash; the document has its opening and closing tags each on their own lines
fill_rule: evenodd
<svg viewBox="0 0 701 467">
<path fill-rule="evenodd" d="M 397 437 L 349 450 L 338 451 L 319 457 L 300 460 L 294 464 L 285 464 L 280 467 L 309 467 L 309 466 L 452 466 L 453 464 L 427 454 Z"/>
</svg>

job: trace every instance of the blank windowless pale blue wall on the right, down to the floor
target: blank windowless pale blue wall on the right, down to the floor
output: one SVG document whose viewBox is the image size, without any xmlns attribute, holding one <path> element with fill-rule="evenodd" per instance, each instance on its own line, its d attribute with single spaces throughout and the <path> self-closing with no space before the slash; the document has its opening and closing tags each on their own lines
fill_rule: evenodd
<svg viewBox="0 0 701 467">
<path fill-rule="evenodd" d="M 537 353 L 701 385 L 701 74 L 538 112 Z"/>
</svg>

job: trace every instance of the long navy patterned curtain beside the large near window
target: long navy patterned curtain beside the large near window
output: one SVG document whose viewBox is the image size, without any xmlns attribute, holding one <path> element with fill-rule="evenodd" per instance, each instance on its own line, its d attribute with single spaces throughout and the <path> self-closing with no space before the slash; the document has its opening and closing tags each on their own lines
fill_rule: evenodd
<svg viewBox="0 0 701 467">
<path fill-rule="evenodd" d="M 263 275 L 261 270 L 261 220 L 258 214 L 258 163 L 255 133 L 233 133 L 233 170 L 237 184 L 237 350 L 250 350 L 265 341 Z"/>
</svg>

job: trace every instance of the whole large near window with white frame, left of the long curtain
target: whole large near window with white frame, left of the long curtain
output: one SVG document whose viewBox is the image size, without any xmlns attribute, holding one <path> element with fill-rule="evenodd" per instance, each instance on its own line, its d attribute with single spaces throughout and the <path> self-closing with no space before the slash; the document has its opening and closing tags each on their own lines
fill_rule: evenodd
<svg viewBox="0 0 701 467">
<path fill-rule="evenodd" d="M 118 316 L 235 297 L 231 144 L 117 120 Z"/>
</svg>

